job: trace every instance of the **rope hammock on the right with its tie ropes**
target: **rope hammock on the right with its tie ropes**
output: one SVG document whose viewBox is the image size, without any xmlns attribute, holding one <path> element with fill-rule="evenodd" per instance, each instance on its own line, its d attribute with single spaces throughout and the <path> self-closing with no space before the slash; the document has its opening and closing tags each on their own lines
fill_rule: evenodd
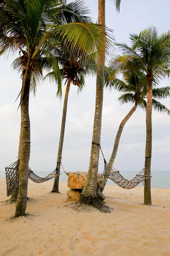
<svg viewBox="0 0 170 256">
<path fill-rule="evenodd" d="M 100 150 L 102 152 L 102 148 L 98 143 L 92 142 L 92 144 L 98 145 L 100 147 Z M 146 169 L 146 162 L 147 159 L 150 157 L 145 157 L 145 167 L 140 171 L 132 180 L 125 179 L 119 171 L 117 171 L 114 167 L 111 167 L 105 160 L 105 157 L 103 155 L 104 160 L 104 177 L 108 177 L 111 179 L 114 183 L 116 183 L 118 186 L 122 187 L 123 189 L 133 189 L 134 187 L 138 186 L 139 183 L 143 182 L 144 180 L 147 180 L 148 178 L 152 177 L 150 176 L 149 172 Z"/>
</svg>

